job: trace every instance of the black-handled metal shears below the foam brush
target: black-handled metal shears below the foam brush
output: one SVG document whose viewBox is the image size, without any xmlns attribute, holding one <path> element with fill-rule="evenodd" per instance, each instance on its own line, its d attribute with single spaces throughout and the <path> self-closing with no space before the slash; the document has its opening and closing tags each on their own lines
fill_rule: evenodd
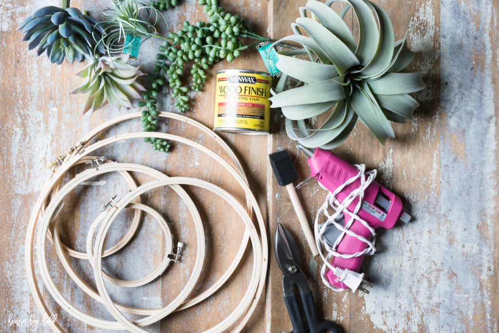
<svg viewBox="0 0 499 333">
<path fill-rule="evenodd" d="M 277 230 L 275 231 L 274 249 L 277 264 L 282 271 L 284 303 L 293 325 L 291 333 L 343 332 L 336 323 L 318 320 L 312 290 L 298 264 L 300 262 L 298 248 L 289 232 L 280 223 L 277 224 Z M 298 298 L 294 293 L 295 286 L 300 290 L 301 305 L 305 318 L 301 315 Z M 307 326 L 305 326 L 304 319 Z"/>
</svg>

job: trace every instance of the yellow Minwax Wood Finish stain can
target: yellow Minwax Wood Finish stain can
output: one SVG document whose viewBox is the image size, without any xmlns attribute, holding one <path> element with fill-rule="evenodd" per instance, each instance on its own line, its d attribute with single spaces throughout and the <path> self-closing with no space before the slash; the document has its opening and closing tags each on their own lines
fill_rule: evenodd
<svg viewBox="0 0 499 333">
<path fill-rule="evenodd" d="M 217 72 L 214 131 L 268 134 L 270 87 L 265 72 L 224 69 Z"/>
</svg>

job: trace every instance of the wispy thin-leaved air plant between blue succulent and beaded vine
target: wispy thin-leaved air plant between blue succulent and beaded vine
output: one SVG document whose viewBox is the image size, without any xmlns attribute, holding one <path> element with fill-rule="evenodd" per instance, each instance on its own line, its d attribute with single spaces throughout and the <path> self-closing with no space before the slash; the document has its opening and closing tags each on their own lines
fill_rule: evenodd
<svg viewBox="0 0 499 333">
<path fill-rule="evenodd" d="M 113 6 L 103 10 L 106 19 L 97 25 L 103 29 L 102 42 L 108 54 L 121 53 L 126 35 L 141 37 L 141 42 L 160 37 L 156 29 L 159 19 L 165 16 L 150 2 L 140 0 L 113 0 Z"/>
</svg>

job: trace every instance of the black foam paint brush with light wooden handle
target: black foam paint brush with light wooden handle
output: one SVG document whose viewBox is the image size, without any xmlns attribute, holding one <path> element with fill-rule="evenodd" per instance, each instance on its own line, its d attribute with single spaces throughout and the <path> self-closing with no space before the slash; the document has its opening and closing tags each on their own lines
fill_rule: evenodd
<svg viewBox="0 0 499 333">
<path fill-rule="evenodd" d="M 315 244 L 315 237 L 310 229 L 310 224 L 303 213 L 303 208 L 301 207 L 298 194 L 294 188 L 293 182 L 298 180 L 298 175 L 296 174 L 296 169 L 294 168 L 293 161 L 286 150 L 279 150 L 275 153 L 269 154 L 270 165 L 274 171 L 275 178 L 277 178 L 277 183 L 279 186 L 285 186 L 291 203 L 293 205 L 294 211 L 298 216 L 298 221 L 300 222 L 301 229 L 305 234 L 305 238 L 308 242 L 308 246 L 312 251 L 314 256 L 319 254 L 317 250 L 317 245 Z"/>
</svg>

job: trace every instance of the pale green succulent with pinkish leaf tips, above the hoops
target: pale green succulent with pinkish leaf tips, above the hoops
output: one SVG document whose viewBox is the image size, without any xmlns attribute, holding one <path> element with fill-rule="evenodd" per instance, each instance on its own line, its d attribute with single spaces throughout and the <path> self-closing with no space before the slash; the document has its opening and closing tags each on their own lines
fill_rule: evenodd
<svg viewBox="0 0 499 333">
<path fill-rule="evenodd" d="M 81 87 L 72 93 L 87 93 L 83 113 L 95 111 L 106 102 L 114 106 L 133 107 L 133 99 L 141 99 L 145 88 L 137 82 L 143 75 L 138 67 L 127 63 L 130 55 L 103 56 L 94 59 L 77 75 L 85 78 Z"/>
</svg>

